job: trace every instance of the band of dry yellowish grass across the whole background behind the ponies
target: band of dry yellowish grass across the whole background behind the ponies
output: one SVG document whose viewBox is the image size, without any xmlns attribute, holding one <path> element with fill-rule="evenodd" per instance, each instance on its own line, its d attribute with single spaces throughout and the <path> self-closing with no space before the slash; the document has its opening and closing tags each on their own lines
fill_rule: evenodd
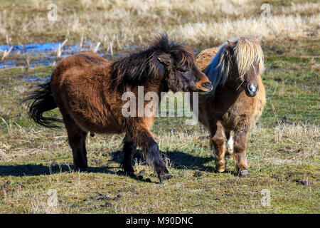
<svg viewBox="0 0 320 228">
<path fill-rule="evenodd" d="M 116 51 L 144 46 L 152 34 L 168 32 L 194 48 L 214 46 L 228 38 L 255 36 L 262 41 L 319 38 L 320 4 L 284 1 L 55 1 L 57 21 L 48 21 L 50 1 L 5 0 L 0 6 L 0 41 L 36 43 L 85 40 L 110 43 Z M 270 11 L 269 11 L 270 9 Z"/>
</svg>

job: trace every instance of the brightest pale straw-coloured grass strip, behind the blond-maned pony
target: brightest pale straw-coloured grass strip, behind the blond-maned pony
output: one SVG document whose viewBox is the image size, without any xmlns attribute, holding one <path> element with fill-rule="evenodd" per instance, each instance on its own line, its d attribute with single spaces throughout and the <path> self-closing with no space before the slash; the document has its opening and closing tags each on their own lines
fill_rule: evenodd
<svg viewBox="0 0 320 228">
<path fill-rule="evenodd" d="M 235 39 L 238 36 L 252 36 L 266 41 L 283 41 L 285 39 L 308 38 L 309 32 L 319 29 L 320 14 L 309 18 L 301 16 L 270 16 L 258 19 L 238 19 L 235 21 L 224 21 L 222 23 L 200 22 L 186 24 L 171 34 L 181 34 L 182 40 L 189 44 L 201 43 L 213 40 L 213 43 L 220 43 L 227 39 Z"/>
</svg>

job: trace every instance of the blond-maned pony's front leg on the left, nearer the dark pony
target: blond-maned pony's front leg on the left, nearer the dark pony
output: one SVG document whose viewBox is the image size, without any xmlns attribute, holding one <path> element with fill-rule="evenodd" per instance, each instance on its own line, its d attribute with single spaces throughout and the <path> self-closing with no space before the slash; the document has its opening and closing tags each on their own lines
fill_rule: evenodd
<svg viewBox="0 0 320 228">
<path fill-rule="evenodd" d="M 213 145 L 213 154 L 215 155 L 215 168 L 218 172 L 225 171 L 225 138 L 223 137 L 223 125 L 215 121 L 211 125 L 211 145 Z"/>
</svg>

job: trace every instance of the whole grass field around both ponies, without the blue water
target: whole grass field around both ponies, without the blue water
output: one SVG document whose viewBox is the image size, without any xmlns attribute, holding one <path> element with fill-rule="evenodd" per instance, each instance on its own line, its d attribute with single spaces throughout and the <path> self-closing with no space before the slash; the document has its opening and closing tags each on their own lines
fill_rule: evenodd
<svg viewBox="0 0 320 228">
<path fill-rule="evenodd" d="M 194 51 L 201 51 L 227 38 L 257 33 L 265 53 L 262 82 L 267 105 L 247 140 L 250 177 L 236 177 L 233 160 L 228 160 L 227 172 L 216 173 L 207 130 L 200 124 L 184 125 L 183 118 L 157 118 L 152 129 L 174 175 L 163 184 L 140 152 L 135 154 L 134 170 L 141 180 L 122 174 L 119 161 L 124 135 L 87 138 L 90 172 L 74 172 L 65 130 L 34 125 L 26 104 L 20 102 L 24 93 L 50 76 L 53 66 L 14 69 L 0 72 L 0 213 L 320 212 L 316 1 L 230 1 L 237 11 L 191 0 L 56 2 L 65 21 L 48 24 L 43 19 L 48 1 L 1 1 L 0 43 L 6 43 L 6 36 L 11 43 L 65 38 L 78 43 L 84 32 L 85 39 L 100 41 L 107 50 L 118 34 L 114 50 L 122 52 L 129 44 L 143 46 L 150 33 L 168 31 Z M 260 6 L 265 2 L 272 6 L 270 20 L 277 21 L 277 28 L 257 24 L 262 23 Z M 99 20 L 102 22 L 97 23 Z M 233 29 L 233 23 L 238 28 Z M 248 24 L 252 27 L 243 29 Z M 55 191 L 58 203 L 52 205 Z M 262 192 L 270 192 L 269 206 L 262 203 L 267 196 Z"/>
</svg>

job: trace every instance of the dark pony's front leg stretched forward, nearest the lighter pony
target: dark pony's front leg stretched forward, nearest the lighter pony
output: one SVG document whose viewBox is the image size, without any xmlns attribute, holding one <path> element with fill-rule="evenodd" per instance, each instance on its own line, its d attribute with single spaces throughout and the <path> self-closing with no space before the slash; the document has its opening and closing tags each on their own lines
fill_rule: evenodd
<svg viewBox="0 0 320 228">
<path fill-rule="evenodd" d="M 159 146 L 152 137 L 151 132 L 147 129 L 140 128 L 139 130 L 136 129 L 132 135 L 133 142 L 142 147 L 146 161 L 154 169 L 160 182 L 171 178 L 172 176 L 169 175 L 166 165 L 160 157 Z"/>
</svg>

